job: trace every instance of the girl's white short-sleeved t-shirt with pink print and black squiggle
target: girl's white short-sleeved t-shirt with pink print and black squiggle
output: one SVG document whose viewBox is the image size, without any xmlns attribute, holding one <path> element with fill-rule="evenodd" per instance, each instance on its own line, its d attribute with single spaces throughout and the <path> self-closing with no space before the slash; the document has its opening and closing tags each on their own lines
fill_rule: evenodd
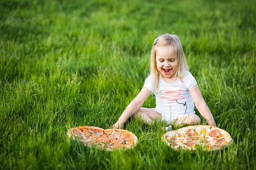
<svg viewBox="0 0 256 170">
<path fill-rule="evenodd" d="M 162 115 L 166 121 L 177 119 L 184 114 L 195 114 L 195 104 L 189 93 L 189 90 L 194 87 L 197 82 L 189 71 L 186 71 L 184 78 L 177 79 L 176 82 L 169 84 L 162 77 L 159 79 L 159 91 L 154 89 L 154 80 L 152 74 L 145 79 L 144 86 L 152 91 L 156 96 L 156 108 L 154 109 Z"/>
</svg>

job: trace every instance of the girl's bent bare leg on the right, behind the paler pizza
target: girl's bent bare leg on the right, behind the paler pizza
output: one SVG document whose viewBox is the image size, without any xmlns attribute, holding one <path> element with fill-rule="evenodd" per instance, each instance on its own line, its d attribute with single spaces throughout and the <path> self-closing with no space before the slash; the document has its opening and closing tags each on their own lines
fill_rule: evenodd
<svg viewBox="0 0 256 170">
<path fill-rule="evenodd" d="M 199 125 L 200 123 L 201 119 L 196 114 L 186 114 L 177 119 L 174 125 Z"/>
</svg>

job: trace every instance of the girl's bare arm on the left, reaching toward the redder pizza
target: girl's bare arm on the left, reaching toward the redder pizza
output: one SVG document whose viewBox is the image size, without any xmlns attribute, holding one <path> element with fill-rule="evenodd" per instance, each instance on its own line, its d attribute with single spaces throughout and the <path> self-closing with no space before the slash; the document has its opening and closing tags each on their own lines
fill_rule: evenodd
<svg viewBox="0 0 256 170">
<path fill-rule="evenodd" d="M 133 99 L 133 101 L 131 101 L 131 103 L 127 106 L 125 111 L 119 117 L 118 121 L 113 125 L 113 128 L 123 128 L 127 119 L 129 119 L 141 108 L 150 93 L 151 91 L 143 86 L 140 93 L 135 97 L 135 99 Z"/>
</svg>

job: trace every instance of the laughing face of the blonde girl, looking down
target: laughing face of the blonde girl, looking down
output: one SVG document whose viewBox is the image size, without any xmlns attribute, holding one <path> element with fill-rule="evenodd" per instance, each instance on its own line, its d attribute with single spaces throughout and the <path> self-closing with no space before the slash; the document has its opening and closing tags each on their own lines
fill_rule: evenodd
<svg viewBox="0 0 256 170">
<path fill-rule="evenodd" d="M 177 69 L 177 59 L 169 46 L 161 46 L 156 49 L 157 70 L 161 73 L 163 79 L 174 78 Z"/>
</svg>

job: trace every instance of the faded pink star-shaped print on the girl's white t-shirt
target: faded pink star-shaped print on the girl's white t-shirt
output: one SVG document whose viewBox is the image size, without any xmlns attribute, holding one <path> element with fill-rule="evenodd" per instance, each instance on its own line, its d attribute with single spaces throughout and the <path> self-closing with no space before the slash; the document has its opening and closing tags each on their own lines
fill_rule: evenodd
<svg viewBox="0 0 256 170">
<path fill-rule="evenodd" d="M 173 90 L 168 87 L 165 87 L 165 94 L 161 97 L 163 100 L 167 100 L 169 105 L 172 107 L 172 104 L 176 102 L 178 99 L 185 99 L 186 97 L 181 96 L 182 89 Z"/>
</svg>

